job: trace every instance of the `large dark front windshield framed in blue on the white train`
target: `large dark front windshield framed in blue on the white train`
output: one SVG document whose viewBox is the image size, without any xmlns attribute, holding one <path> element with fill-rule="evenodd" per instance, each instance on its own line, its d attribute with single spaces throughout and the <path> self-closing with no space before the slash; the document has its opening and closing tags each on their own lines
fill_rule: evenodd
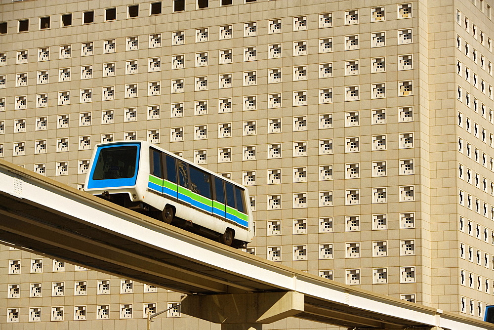
<svg viewBox="0 0 494 330">
<path fill-rule="evenodd" d="M 137 146 L 103 148 L 94 168 L 93 180 L 131 178 L 135 174 Z"/>
</svg>

